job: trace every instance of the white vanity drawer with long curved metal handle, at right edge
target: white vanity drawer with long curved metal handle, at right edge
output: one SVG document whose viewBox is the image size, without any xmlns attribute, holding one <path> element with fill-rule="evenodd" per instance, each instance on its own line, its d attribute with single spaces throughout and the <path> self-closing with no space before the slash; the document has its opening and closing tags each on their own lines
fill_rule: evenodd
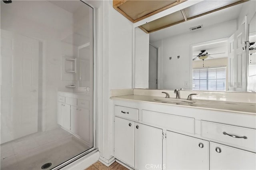
<svg viewBox="0 0 256 170">
<path fill-rule="evenodd" d="M 256 130 L 221 123 L 201 121 L 202 137 L 256 152 Z M 226 134 L 224 134 L 226 132 Z M 232 136 L 229 136 L 229 135 Z M 239 138 L 244 137 L 244 138 Z"/>
</svg>

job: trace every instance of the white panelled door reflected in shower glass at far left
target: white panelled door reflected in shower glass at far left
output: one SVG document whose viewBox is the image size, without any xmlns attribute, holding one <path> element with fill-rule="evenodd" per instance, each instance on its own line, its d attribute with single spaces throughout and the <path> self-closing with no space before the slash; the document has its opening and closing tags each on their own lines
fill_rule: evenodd
<svg viewBox="0 0 256 170">
<path fill-rule="evenodd" d="M 1 29 L 1 143 L 38 131 L 39 41 Z"/>
</svg>

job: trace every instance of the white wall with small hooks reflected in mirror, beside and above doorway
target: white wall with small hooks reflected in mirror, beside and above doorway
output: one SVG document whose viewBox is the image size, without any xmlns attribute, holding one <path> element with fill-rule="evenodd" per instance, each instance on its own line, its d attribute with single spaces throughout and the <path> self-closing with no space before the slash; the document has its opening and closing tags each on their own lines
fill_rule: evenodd
<svg viewBox="0 0 256 170">
<path fill-rule="evenodd" d="M 159 70 L 162 70 L 162 89 L 190 89 L 191 57 L 190 45 L 228 38 L 236 31 L 236 20 L 203 27 L 200 30 L 188 34 L 177 35 L 162 39 L 162 62 Z M 155 43 L 152 43 L 156 45 Z M 158 42 L 158 44 L 160 44 Z M 156 45 L 157 46 L 157 45 Z M 180 59 L 177 56 L 180 55 Z M 172 57 L 170 60 L 169 57 Z M 188 86 L 185 87 L 185 81 Z"/>
</svg>

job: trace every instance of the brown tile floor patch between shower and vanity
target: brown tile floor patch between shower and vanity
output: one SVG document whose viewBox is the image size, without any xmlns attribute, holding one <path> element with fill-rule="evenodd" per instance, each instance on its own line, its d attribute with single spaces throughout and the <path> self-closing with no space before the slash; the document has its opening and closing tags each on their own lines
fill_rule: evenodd
<svg viewBox="0 0 256 170">
<path fill-rule="evenodd" d="M 104 164 L 102 164 L 100 161 L 98 161 L 95 164 L 86 168 L 85 170 L 129 170 L 129 169 L 122 166 L 121 164 L 118 164 L 117 162 L 114 162 L 109 167 L 107 167 Z"/>
</svg>

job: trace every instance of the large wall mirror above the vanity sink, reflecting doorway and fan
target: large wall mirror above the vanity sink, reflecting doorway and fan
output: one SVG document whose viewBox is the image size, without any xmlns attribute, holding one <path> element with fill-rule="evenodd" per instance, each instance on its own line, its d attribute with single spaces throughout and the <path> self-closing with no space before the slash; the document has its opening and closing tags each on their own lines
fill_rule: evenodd
<svg viewBox="0 0 256 170">
<path fill-rule="evenodd" d="M 135 28 L 135 88 L 256 92 L 256 1 L 193 18 L 207 2 Z"/>
</svg>

